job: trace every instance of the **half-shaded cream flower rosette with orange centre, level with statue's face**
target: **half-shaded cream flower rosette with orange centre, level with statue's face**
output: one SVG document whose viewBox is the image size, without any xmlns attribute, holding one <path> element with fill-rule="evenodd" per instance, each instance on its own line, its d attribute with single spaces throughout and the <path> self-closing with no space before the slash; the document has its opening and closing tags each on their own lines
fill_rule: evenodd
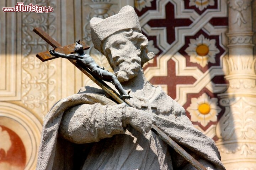
<svg viewBox="0 0 256 170">
<path fill-rule="evenodd" d="M 219 49 L 215 46 L 215 39 L 207 39 L 202 34 L 196 39 L 190 39 L 185 52 L 190 56 L 190 62 L 198 63 L 204 67 L 210 63 L 215 63 L 215 55 L 219 53 Z"/>
</svg>

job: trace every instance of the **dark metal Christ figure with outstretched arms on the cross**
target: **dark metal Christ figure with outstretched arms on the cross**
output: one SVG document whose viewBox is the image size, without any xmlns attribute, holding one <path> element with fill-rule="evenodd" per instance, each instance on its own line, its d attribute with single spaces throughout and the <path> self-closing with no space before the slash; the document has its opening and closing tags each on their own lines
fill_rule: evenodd
<svg viewBox="0 0 256 170">
<path fill-rule="evenodd" d="M 80 40 L 76 41 L 76 46 L 74 51 L 76 52 L 76 54 L 68 54 L 68 55 L 56 52 L 54 50 L 50 50 L 49 52 L 53 56 L 59 56 L 62 58 L 76 60 L 80 64 L 80 66 L 89 68 L 92 74 L 94 74 L 94 76 L 96 76 L 97 78 L 112 82 L 116 87 L 116 89 L 118 90 L 118 92 L 120 93 L 121 98 L 123 99 L 131 98 L 128 95 L 128 93 L 123 89 L 122 85 L 119 83 L 115 75 L 106 71 L 104 68 L 100 68 L 100 66 L 98 66 L 98 64 L 94 61 L 94 59 L 91 56 L 84 53 L 83 46 L 82 44 L 80 44 Z"/>
</svg>

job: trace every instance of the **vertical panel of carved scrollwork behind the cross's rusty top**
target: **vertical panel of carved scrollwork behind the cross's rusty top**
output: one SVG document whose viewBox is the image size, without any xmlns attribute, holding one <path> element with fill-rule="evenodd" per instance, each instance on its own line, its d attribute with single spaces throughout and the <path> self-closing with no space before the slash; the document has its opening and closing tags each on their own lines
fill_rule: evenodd
<svg viewBox="0 0 256 170">
<path fill-rule="evenodd" d="M 40 6 L 51 6 L 56 8 L 56 2 L 47 0 L 24 2 L 33 3 Z M 35 57 L 38 51 L 49 49 L 47 43 L 32 32 L 34 27 L 41 27 L 53 36 L 56 32 L 56 13 L 22 13 L 22 103 L 41 113 L 43 119 L 48 112 L 49 101 L 56 101 L 57 96 L 53 94 L 56 90 L 56 80 L 53 75 L 56 74 L 56 64 L 54 61 L 41 62 Z"/>
</svg>

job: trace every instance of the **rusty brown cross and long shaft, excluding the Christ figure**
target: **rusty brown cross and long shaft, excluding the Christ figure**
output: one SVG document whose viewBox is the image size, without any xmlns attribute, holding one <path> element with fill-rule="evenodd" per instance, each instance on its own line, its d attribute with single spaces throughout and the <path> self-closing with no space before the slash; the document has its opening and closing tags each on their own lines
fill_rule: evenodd
<svg viewBox="0 0 256 170">
<path fill-rule="evenodd" d="M 52 37 L 50 37 L 46 32 L 44 32 L 41 28 L 34 28 L 33 32 L 38 34 L 42 39 L 44 39 L 49 45 L 54 47 L 54 50 L 59 53 L 70 54 L 75 53 L 74 48 L 75 44 L 67 45 L 62 47 L 57 41 L 55 41 Z M 84 42 L 80 42 L 83 44 L 84 49 L 89 49 Z M 48 61 L 56 56 L 52 56 L 49 51 L 41 52 L 36 55 L 41 61 Z M 108 86 L 104 81 L 101 79 L 93 76 L 90 69 L 81 67 L 79 63 L 75 60 L 68 59 L 71 63 L 73 63 L 78 69 L 80 69 L 84 74 L 86 74 L 94 83 L 100 86 L 108 95 L 110 95 L 114 101 L 117 103 L 125 103 L 126 106 L 132 107 L 127 101 L 121 99 L 120 95 L 117 94 L 110 86 Z M 194 159 L 189 153 L 187 153 L 181 146 L 179 146 L 174 140 L 172 140 L 169 136 L 167 136 L 164 132 L 162 132 L 156 125 L 153 124 L 153 128 L 151 129 L 155 134 L 159 135 L 160 138 L 165 141 L 168 145 L 170 145 L 177 153 L 179 153 L 184 159 L 190 162 L 197 170 L 207 170 L 201 163 L 199 163 L 196 159 Z"/>
</svg>

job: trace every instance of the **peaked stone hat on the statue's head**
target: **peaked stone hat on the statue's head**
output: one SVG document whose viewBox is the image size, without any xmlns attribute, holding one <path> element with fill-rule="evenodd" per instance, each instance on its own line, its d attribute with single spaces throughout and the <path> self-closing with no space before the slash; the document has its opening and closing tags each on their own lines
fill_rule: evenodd
<svg viewBox="0 0 256 170">
<path fill-rule="evenodd" d="M 139 18 L 131 6 L 124 6 L 118 14 L 106 19 L 92 18 L 90 21 L 91 38 L 94 48 L 104 54 L 102 42 L 108 36 L 124 29 L 133 29 L 141 33 Z"/>
</svg>

